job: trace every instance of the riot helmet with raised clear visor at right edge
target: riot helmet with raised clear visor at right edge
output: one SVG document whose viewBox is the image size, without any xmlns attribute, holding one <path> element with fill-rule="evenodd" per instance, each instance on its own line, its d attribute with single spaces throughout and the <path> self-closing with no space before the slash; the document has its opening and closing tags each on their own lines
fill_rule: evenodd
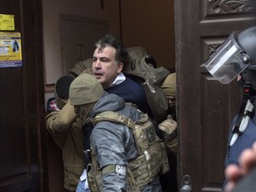
<svg viewBox="0 0 256 192">
<path fill-rule="evenodd" d="M 229 84 L 245 68 L 256 70 L 256 26 L 228 36 L 205 68 L 222 84 Z"/>
</svg>

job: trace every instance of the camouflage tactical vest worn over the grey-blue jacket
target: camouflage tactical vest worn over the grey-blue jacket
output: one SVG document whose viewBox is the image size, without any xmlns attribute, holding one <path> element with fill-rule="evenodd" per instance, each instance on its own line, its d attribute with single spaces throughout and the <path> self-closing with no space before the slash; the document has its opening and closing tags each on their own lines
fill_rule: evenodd
<svg viewBox="0 0 256 192">
<path fill-rule="evenodd" d="M 92 124 L 110 121 L 116 124 L 124 124 L 132 129 L 136 148 L 139 156 L 128 163 L 126 177 L 128 179 L 128 191 L 139 192 L 141 188 L 156 179 L 159 174 L 169 171 L 169 163 L 166 155 L 166 148 L 156 135 L 154 125 L 144 114 L 139 121 L 113 112 L 100 113 L 92 119 Z M 92 192 L 102 191 L 102 172 L 115 172 L 115 165 L 108 165 L 100 170 L 96 160 L 95 152 L 92 150 L 92 163 L 87 166 L 89 188 Z"/>
</svg>

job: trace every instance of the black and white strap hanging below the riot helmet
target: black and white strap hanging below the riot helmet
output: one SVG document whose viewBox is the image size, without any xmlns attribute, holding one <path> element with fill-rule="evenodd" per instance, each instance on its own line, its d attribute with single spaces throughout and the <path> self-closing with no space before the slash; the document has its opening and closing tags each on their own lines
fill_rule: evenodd
<svg viewBox="0 0 256 192">
<path fill-rule="evenodd" d="M 232 146 L 237 138 L 241 136 L 246 129 L 250 117 L 252 117 L 252 112 L 254 105 L 252 104 L 254 102 L 255 97 L 255 90 L 252 89 L 251 83 L 244 83 L 244 93 L 243 93 L 243 100 L 240 106 L 239 113 L 236 117 L 236 123 L 234 124 L 232 128 L 232 138 L 228 144 L 228 146 Z"/>
</svg>

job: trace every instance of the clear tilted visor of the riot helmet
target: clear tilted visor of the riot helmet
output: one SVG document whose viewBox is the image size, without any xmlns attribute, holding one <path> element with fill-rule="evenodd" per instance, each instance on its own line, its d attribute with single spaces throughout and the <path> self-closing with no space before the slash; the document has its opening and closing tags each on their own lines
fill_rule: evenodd
<svg viewBox="0 0 256 192">
<path fill-rule="evenodd" d="M 232 33 L 205 63 L 205 68 L 222 84 L 229 84 L 249 63 L 244 63 L 244 52 Z"/>
</svg>

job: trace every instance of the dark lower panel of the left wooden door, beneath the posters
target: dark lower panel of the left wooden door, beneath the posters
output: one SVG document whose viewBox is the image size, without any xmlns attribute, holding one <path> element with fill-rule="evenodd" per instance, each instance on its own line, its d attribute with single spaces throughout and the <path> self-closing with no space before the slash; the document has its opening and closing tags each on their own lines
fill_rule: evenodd
<svg viewBox="0 0 256 192">
<path fill-rule="evenodd" d="M 21 68 L 0 68 L 0 191 L 6 192 L 32 188 L 22 71 Z"/>
</svg>

